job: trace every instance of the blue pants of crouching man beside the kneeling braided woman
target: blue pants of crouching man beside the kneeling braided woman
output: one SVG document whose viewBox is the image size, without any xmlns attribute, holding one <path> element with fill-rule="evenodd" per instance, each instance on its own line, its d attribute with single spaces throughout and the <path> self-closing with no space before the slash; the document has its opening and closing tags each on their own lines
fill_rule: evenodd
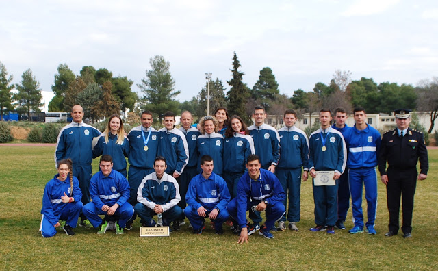
<svg viewBox="0 0 438 271">
<path fill-rule="evenodd" d="M 102 211 L 102 209 L 98 209 L 94 203 L 87 203 L 82 208 L 83 214 L 90 220 L 91 224 L 94 228 L 99 227 L 100 224 L 103 223 L 102 218 L 99 217 L 99 215 L 106 215 L 106 211 Z M 114 213 L 114 216 L 118 216 L 118 224 L 123 229 L 126 226 L 126 222 L 131 218 L 133 215 L 134 209 L 132 205 L 130 205 L 128 202 L 123 203 L 122 206 L 119 206 Z"/>
</svg>

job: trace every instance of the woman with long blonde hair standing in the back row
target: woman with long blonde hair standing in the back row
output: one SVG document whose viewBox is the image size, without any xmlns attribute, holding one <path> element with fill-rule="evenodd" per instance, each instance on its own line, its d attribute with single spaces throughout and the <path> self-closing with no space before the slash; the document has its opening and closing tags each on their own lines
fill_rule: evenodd
<svg viewBox="0 0 438 271">
<path fill-rule="evenodd" d="M 107 129 L 99 136 L 99 140 L 93 149 L 93 158 L 100 155 L 111 155 L 113 160 L 113 169 L 122 173 L 125 177 L 126 159 L 129 156 L 129 140 L 125 137 L 122 118 L 118 114 L 110 116 Z"/>
</svg>

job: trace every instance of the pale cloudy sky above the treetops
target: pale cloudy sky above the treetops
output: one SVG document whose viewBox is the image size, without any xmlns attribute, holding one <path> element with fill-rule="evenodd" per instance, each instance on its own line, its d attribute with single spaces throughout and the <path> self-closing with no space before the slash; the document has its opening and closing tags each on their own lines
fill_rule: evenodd
<svg viewBox="0 0 438 271">
<path fill-rule="evenodd" d="M 8 1 L 1 5 L 0 62 L 19 83 L 31 68 L 51 92 L 57 66 L 107 68 L 133 90 L 149 59 L 170 62 L 180 101 L 213 73 L 227 86 L 233 51 L 251 88 L 272 68 L 281 93 L 352 79 L 411 83 L 438 76 L 436 0 Z"/>
</svg>

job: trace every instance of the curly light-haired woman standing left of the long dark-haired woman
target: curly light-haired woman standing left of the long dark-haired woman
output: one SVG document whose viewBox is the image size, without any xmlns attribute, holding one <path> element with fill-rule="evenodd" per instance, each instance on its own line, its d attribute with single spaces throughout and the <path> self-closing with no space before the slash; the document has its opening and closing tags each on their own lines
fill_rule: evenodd
<svg viewBox="0 0 438 271">
<path fill-rule="evenodd" d="M 201 118 L 199 125 L 201 125 L 201 135 L 196 139 L 198 157 L 201 159 L 203 155 L 210 155 L 214 163 L 213 172 L 222 176 L 224 137 L 217 133 L 218 120 L 214 116 L 205 116 Z M 200 161 L 198 161 L 198 172 L 201 172 Z"/>
</svg>

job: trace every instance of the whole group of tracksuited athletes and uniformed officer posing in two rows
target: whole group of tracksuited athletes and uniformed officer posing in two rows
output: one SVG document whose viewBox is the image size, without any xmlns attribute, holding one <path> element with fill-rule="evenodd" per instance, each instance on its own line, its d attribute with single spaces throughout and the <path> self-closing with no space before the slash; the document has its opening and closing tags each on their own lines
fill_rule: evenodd
<svg viewBox="0 0 438 271">
<path fill-rule="evenodd" d="M 402 195 L 403 236 L 411 237 L 416 180 L 426 179 L 428 158 L 422 133 L 409 128 L 409 110 L 395 111 L 397 128 L 383 138 L 366 123 L 363 108 L 354 109 L 353 127 L 346 125 L 344 109 L 335 111 L 333 126 L 330 110 L 321 109 L 321 127 L 309 138 L 295 126 L 293 109 L 284 112 L 285 126 L 278 131 L 265 123 L 266 111 L 259 106 L 250 127 L 218 107 L 197 125 L 190 112 L 183 112 L 179 129 L 175 114 L 166 112 L 164 127 L 157 131 L 152 112 L 144 111 L 142 125 L 127 135 L 117 114 L 110 116 L 103 133 L 82 121 L 80 105 L 71 115 L 73 122 L 57 139 L 58 173 L 44 188 L 43 237 L 55 235 L 57 227 L 75 235 L 79 217 L 79 226 L 94 227 L 98 234 L 107 229 L 123 234 L 138 216 L 143 227 L 169 226 L 170 231 L 179 230 L 188 218 L 196 234 L 203 233 L 209 218 L 216 234 L 224 233 L 226 223 L 239 235 L 239 243 L 248 242 L 256 231 L 271 239 L 271 231 L 298 231 L 301 181 L 309 175 L 323 179 L 327 173 L 333 181 L 312 181 L 315 227 L 310 230 L 333 234 L 335 228 L 346 229 L 351 195 L 354 226 L 348 232 L 362 233 L 365 227 L 374 235 L 377 165 L 387 185 L 390 221 L 385 235 L 398 233 Z M 92 159 L 99 156 L 100 170 L 92 175 Z M 368 203 L 365 224 L 363 185 Z M 264 223 L 261 211 L 266 211 Z"/>
</svg>

